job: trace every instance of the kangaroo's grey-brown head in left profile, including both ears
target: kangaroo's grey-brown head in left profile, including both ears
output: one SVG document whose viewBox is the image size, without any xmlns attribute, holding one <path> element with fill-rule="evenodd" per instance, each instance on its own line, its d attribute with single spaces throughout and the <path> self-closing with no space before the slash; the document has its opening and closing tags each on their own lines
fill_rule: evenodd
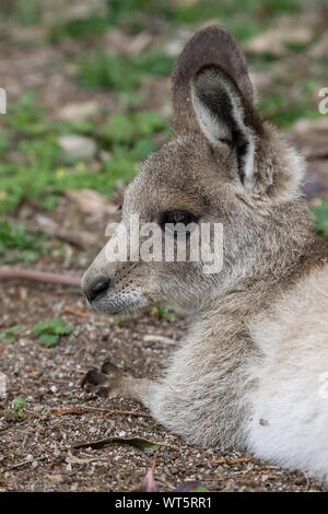
<svg viewBox="0 0 328 514">
<path fill-rule="evenodd" d="M 222 223 L 222 271 L 204 273 L 190 260 L 113 264 L 105 247 L 82 279 L 98 312 L 160 302 L 199 307 L 259 269 L 274 269 L 290 246 L 302 161 L 255 110 L 244 56 L 223 28 L 208 27 L 187 44 L 173 72 L 173 135 L 128 187 L 122 223 L 138 214 L 165 235 L 168 222 Z"/>
</svg>

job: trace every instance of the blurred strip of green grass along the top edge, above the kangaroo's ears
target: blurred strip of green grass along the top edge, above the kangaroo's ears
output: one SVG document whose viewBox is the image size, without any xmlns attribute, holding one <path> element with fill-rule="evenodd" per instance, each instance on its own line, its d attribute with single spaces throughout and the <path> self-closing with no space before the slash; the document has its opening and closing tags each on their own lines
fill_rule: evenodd
<svg viewBox="0 0 328 514">
<path fill-rule="evenodd" d="M 185 5 L 175 5 L 166 0 L 107 0 L 105 12 L 95 10 L 83 17 L 55 23 L 49 37 L 56 44 L 65 37 L 96 38 L 113 26 L 139 33 L 148 28 L 150 19 L 161 19 L 162 25 L 173 28 L 213 21 L 232 31 L 239 40 L 245 40 L 263 31 L 272 17 L 293 14 L 305 7 L 306 0 L 199 0 Z"/>
</svg>

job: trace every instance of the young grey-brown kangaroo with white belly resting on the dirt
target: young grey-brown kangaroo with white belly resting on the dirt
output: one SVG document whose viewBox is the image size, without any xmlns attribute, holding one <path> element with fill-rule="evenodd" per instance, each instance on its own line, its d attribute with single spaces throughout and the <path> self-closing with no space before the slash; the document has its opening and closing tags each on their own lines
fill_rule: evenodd
<svg viewBox="0 0 328 514">
<path fill-rule="evenodd" d="M 302 197 L 305 165 L 254 106 L 236 40 L 211 26 L 172 77 L 174 129 L 141 165 L 122 205 L 185 226 L 223 224 L 223 267 L 108 264 L 103 249 L 82 289 L 98 313 L 169 303 L 192 311 L 159 381 L 109 361 L 87 373 L 109 396 L 141 401 L 164 427 L 202 446 L 234 447 L 273 465 L 328 477 L 327 244 Z"/>
</svg>

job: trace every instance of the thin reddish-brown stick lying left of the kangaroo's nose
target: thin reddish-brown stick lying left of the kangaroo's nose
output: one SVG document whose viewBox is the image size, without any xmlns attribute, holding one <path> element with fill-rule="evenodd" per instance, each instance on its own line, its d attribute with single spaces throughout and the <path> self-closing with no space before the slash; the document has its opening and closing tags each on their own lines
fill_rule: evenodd
<svg viewBox="0 0 328 514">
<path fill-rule="evenodd" d="M 0 280 L 32 280 L 36 282 L 57 283 L 61 285 L 72 285 L 80 288 L 81 279 L 68 274 L 47 273 L 45 271 L 32 271 L 30 269 L 0 267 Z"/>
</svg>

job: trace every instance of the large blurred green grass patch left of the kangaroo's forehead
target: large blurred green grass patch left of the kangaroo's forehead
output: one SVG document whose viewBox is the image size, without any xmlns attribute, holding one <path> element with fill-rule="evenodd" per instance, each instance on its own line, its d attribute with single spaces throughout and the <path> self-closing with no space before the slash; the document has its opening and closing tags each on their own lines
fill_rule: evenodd
<svg viewBox="0 0 328 514">
<path fill-rule="evenodd" d="M 115 115 L 101 122 L 97 119 L 78 124 L 50 122 L 31 92 L 11 104 L 2 119 L 0 214 L 11 212 L 24 201 L 51 209 L 58 195 L 68 188 L 86 187 L 109 194 L 117 180 L 129 182 L 133 177 L 136 164 L 156 148 L 154 138 L 165 136 L 168 129 L 163 116 L 148 110 Z M 95 139 L 98 150 L 109 151 L 110 159 L 98 161 L 97 173 L 79 160 L 68 162 L 58 145 L 59 136 L 68 133 Z M 8 225 L 3 227 L 9 231 Z M 5 234 L 2 237 L 7 237 Z M 27 258 L 27 254 L 23 256 Z"/>
</svg>

